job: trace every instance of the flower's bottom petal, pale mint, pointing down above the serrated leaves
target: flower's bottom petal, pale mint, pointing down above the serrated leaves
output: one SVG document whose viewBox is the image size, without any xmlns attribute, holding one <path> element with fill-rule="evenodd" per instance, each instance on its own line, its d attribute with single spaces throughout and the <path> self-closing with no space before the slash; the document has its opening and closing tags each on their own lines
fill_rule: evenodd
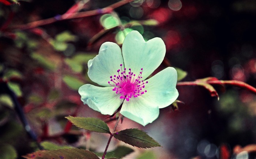
<svg viewBox="0 0 256 159">
<path fill-rule="evenodd" d="M 130 98 L 129 101 L 124 100 L 120 113 L 126 118 L 145 126 L 158 118 L 159 108 L 140 96 Z"/>
</svg>

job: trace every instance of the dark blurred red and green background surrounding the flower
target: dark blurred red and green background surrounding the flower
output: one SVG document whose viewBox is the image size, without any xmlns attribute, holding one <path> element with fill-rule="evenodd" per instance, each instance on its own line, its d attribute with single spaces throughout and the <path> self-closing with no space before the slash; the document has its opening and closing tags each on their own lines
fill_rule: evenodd
<svg viewBox="0 0 256 159">
<path fill-rule="evenodd" d="M 118 1 L 15 2 L 0 1 L 2 158 L 22 158 L 38 150 L 3 81 L 18 97 L 39 143 L 103 152 L 108 135 L 79 130 L 64 117 L 106 120 L 108 116 L 83 105 L 78 88 L 95 84 L 87 76 L 87 62 L 98 54 L 101 44 L 112 41 L 121 46 L 132 30 L 145 40 L 161 37 L 165 42 L 166 58 L 154 73 L 172 66 L 179 76 L 187 73 L 181 82 L 212 76 L 256 87 L 253 0 L 135 0 L 106 12 L 100 8 Z M 94 9 L 98 9 L 94 15 L 68 19 Z M 50 22 L 23 25 L 49 18 Z M 237 149 L 256 143 L 255 94 L 232 86 L 214 88 L 219 101 L 203 87 L 177 86 L 178 100 L 184 104 L 161 109 L 159 118 L 146 127 L 124 119 L 119 130 L 140 128 L 162 145 L 147 150 L 132 147 L 135 152 L 125 158 L 235 158 L 232 154 Z M 108 123 L 113 127 L 115 122 Z M 128 146 L 113 139 L 109 150 L 116 144 Z M 254 158 L 255 151 L 244 156 Z"/>
</svg>

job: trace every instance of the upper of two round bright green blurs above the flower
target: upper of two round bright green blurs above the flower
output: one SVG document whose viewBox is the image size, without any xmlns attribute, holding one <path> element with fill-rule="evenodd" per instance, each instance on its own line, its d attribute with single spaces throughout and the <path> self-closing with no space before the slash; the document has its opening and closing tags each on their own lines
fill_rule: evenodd
<svg viewBox="0 0 256 159">
<path fill-rule="evenodd" d="M 111 14 L 102 15 L 100 18 L 101 25 L 107 30 L 119 25 L 119 21 Z"/>
</svg>

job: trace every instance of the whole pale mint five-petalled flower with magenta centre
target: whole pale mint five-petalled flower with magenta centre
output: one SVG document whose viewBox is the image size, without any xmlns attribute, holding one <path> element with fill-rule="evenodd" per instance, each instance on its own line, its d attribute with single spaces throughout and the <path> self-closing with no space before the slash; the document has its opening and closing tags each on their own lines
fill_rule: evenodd
<svg viewBox="0 0 256 159">
<path fill-rule="evenodd" d="M 112 42 L 101 45 L 99 55 L 88 62 L 90 79 L 104 87 L 85 84 L 78 90 L 81 100 L 101 114 L 120 113 L 145 126 L 159 116 L 159 108 L 178 97 L 177 72 L 167 67 L 147 79 L 162 63 L 165 44 L 161 38 L 144 41 L 137 31 L 124 39 L 122 52 Z"/>
</svg>

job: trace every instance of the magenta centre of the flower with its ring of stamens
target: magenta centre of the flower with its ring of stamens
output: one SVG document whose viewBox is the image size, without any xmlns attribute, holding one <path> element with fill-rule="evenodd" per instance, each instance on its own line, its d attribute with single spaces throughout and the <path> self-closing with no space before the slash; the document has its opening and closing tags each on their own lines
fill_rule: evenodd
<svg viewBox="0 0 256 159">
<path fill-rule="evenodd" d="M 139 73 L 139 75 L 136 77 L 135 74 L 131 71 L 131 68 L 129 68 L 128 73 L 126 72 L 126 68 L 124 70 L 122 69 L 122 64 L 120 64 L 121 70 L 118 69 L 117 73 L 118 75 L 110 76 L 110 81 L 113 84 L 110 84 L 110 86 L 113 86 L 113 90 L 116 94 L 120 93 L 120 99 L 126 99 L 129 101 L 132 96 L 134 98 L 143 95 L 147 92 L 147 90 L 144 90 L 145 84 L 148 82 L 143 82 L 143 80 L 140 80 L 142 78 L 142 70 Z M 121 72 L 120 72 L 121 71 Z"/>
</svg>

